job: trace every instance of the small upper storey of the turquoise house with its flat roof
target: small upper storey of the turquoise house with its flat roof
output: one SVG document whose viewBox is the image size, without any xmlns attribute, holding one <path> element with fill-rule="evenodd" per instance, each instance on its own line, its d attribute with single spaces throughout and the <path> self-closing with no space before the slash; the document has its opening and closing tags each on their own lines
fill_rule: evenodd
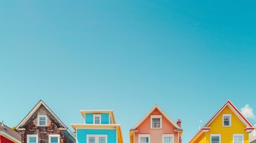
<svg viewBox="0 0 256 143">
<path fill-rule="evenodd" d="M 85 124 L 115 124 L 113 110 L 81 110 Z"/>
</svg>

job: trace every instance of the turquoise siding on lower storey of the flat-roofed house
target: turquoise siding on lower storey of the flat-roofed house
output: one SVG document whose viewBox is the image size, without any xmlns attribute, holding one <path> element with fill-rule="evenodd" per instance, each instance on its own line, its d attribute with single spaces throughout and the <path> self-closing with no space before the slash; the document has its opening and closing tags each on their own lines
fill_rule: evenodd
<svg viewBox="0 0 256 143">
<path fill-rule="evenodd" d="M 107 143 L 116 143 L 115 129 L 77 129 L 78 143 L 87 143 L 87 135 L 107 135 Z"/>
</svg>

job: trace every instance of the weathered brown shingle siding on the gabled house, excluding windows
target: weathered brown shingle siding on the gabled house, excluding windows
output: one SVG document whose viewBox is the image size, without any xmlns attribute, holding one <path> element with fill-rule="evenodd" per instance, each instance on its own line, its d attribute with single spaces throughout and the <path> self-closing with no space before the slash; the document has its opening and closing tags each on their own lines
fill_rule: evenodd
<svg viewBox="0 0 256 143">
<path fill-rule="evenodd" d="M 37 126 L 38 125 L 38 115 L 47 115 L 47 126 Z M 59 130 L 58 128 L 64 128 L 60 123 L 54 118 L 54 116 L 41 105 L 38 110 L 33 113 L 29 120 L 22 126 L 26 130 L 22 132 L 22 142 L 27 142 L 27 135 L 38 135 L 38 143 L 49 142 L 49 135 L 60 135 L 60 143 L 66 143 L 67 135 L 64 130 Z"/>
</svg>

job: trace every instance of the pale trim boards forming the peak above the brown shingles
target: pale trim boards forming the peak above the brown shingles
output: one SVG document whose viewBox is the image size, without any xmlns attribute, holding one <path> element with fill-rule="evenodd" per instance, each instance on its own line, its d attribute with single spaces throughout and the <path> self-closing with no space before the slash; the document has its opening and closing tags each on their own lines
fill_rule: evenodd
<svg viewBox="0 0 256 143">
<path fill-rule="evenodd" d="M 35 107 L 29 112 L 29 114 L 27 114 L 27 116 L 24 117 L 24 119 L 18 124 L 17 129 L 18 129 L 21 125 L 24 125 L 24 123 L 26 123 L 27 120 L 29 120 L 29 118 L 35 113 L 36 110 L 38 110 L 38 108 L 39 108 L 41 105 L 44 105 L 44 107 L 47 108 L 47 110 L 55 117 L 55 119 L 57 119 L 58 122 L 59 122 L 64 128 L 67 128 L 67 126 L 65 126 L 64 123 L 61 122 L 60 119 L 58 119 L 58 117 L 53 113 L 53 111 L 51 111 L 51 109 L 50 109 L 49 107 L 47 107 L 47 105 L 46 105 L 42 100 L 40 100 L 40 101 L 38 102 L 38 104 L 36 104 Z"/>
</svg>

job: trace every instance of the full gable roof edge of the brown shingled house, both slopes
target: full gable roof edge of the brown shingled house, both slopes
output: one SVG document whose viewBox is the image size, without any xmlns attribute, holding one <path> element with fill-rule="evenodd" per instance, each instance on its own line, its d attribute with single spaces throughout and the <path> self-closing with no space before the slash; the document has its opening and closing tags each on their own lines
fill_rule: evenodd
<svg viewBox="0 0 256 143">
<path fill-rule="evenodd" d="M 60 123 L 60 125 L 63 126 L 63 128 L 66 128 L 67 132 L 69 132 L 69 134 L 75 139 L 75 135 L 72 133 L 72 131 L 69 128 L 67 128 L 67 126 L 64 125 L 64 123 L 61 122 L 60 119 L 58 119 L 58 117 L 53 113 L 53 111 L 42 100 L 40 100 L 35 105 L 35 107 L 32 108 L 32 110 L 29 112 L 29 114 L 27 114 L 27 116 L 24 117 L 24 119 L 18 124 L 16 129 L 19 130 L 27 122 L 27 120 L 29 120 L 30 117 L 36 112 L 36 110 L 38 110 L 38 108 L 41 105 L 44 105 L 44 107 L 54 116 L 54 118 L 58 121 L 58 123 Z"/>
</svg>

